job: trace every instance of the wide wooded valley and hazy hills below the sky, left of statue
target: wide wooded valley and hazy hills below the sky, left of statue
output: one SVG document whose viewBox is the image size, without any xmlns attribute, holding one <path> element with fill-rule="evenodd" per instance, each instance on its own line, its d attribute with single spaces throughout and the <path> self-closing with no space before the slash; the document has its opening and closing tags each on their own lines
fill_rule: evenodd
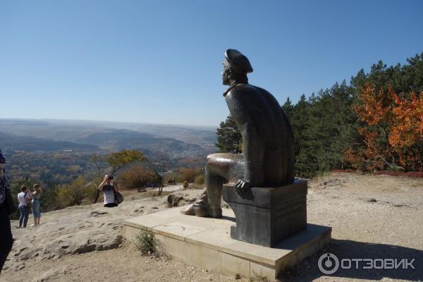
<svg viewBox="0 0 423 282">
<path fill-rule="evenodd" d="M 94 153 L 139 149 L 157 161 L 168 156 L 168 168 L 202 167 L 216 152 L 215 128 L 147 123 L 0 119 L 0 149 L 14 183 L 70 183 L 95 171 Z M 159 153 L 159 154 L 158 154 Z"/>
</svg>

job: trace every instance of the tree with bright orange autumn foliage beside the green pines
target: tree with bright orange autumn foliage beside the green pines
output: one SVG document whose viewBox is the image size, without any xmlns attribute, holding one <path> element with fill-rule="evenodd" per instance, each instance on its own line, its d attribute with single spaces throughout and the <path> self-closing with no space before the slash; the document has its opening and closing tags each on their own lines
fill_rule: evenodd
<svg viewBox="0 0 423 282">
<path fill-rule="evenodd" d="M 345 151 L 355 168 L 380 170 L 389 166 L 423 170 L 423 92 L 397 95 L 391 85 L 375 92 L 368 83 L 357 95 L 353 111 L 362 121 L 362 144 Z"/>
</svg>

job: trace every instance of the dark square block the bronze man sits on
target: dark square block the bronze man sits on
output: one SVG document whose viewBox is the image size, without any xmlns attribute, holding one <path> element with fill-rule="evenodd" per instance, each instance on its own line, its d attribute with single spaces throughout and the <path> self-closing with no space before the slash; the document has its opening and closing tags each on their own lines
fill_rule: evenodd
<svg viewBox="0 0 423 282">
<path fill-rule="evenodd" d="M 277 188 L 250 188 L 239 195 L 233 184 L 223 185 L 223 200 L 231 206 L 236 224 L 231 238 L 274 247 L 281 240 L 305 230 L 307 181 Z"/>
</svg>

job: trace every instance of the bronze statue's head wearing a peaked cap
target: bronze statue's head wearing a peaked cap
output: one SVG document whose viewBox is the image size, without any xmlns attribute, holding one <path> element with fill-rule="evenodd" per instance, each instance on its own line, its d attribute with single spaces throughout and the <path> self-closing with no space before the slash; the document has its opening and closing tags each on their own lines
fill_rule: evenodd
<svg viewBox="0 0 423 282">
<path fill-rule="evenodd" d="M 222 72 L 223 85 L 231 85 L 231 80 L 247 83 L 247 73 L 252 73 L 252 66 L 248 58 L 238 50 L 226 50 Z"/>
</svg>

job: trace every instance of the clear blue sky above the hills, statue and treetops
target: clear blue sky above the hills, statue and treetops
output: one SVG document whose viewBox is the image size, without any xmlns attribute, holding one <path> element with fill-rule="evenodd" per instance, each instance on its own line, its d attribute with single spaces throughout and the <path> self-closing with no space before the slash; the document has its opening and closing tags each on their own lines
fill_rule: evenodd
<svg viewBox="0 0 423 282">
<path fill-rule="evenodd" d="M 423 51 L 423 1 L 1 1 L 0 118 L 218 125 L 224 51 L 282 104 Z"/>
</svg>

